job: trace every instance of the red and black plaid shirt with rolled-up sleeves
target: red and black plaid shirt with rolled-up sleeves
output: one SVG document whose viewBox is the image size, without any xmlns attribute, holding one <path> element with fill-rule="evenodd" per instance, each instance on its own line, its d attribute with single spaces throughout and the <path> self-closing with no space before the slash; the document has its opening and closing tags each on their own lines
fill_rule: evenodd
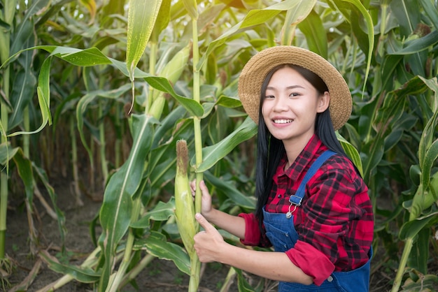
<svg viewBox="0 0 438 292">
<path fill-rule="evenodd" d="M 327 147 L 313 136 L 292 166 L 284 171 L 287 158 L 273 177 L 267 212 L 286 213 L 311 163 Z M 299 239 L 286 251 L 292 263 L 321 284 L 333 271 L 349 271 L 368 261 L 374 233 L 374 216 L 367 186 L 345 156 L 335 154 L 325 161 L 306 184 L 306 194 L 294 214 Z M 260 233 L 255 214 L 239 214 L 246 221 L 246 245 L 270 247 Z"/>
</svg>

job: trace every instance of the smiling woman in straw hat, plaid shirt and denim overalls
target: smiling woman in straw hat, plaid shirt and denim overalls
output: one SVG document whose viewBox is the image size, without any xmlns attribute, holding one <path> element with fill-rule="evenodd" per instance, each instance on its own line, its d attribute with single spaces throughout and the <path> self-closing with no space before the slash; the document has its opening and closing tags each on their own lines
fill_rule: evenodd
<svg viewBox="0 0 438 292">
<path fill-rule="evenodd" d="M 257 206 L 239 216 L 216 210 L 201 182 L 200 261 L 278 280 L 278 291 L 368 291 L 372 206 L 335 135 L 351 115 L 344 78 L 318 54 L 277 46 L 248 61 L 239 98 L 258 124 Z M 275 251 L 228 244 L 212 224 Z"/>
</svg>

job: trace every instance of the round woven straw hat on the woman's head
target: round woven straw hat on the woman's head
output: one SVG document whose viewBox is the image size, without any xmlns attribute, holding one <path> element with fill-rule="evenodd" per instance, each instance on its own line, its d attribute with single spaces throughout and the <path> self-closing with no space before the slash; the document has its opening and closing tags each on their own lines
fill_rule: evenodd
<svg viewBox="0 0 438 292">
<path fill-rule="evenodd" d="M 338 130 L 351 115 L 352 99 L 341 73 L 326 59 L 314 52 L 289 45 L 267 48 L 255 54 L 243 67 L 239 77 L 239 98 L 246 113 L 258 124 L 262 83 L 272 68 L 281 64 L 295 64 L 316 73 L 330 93 L 330 116 L 334 130 Z"/>
</svg>

